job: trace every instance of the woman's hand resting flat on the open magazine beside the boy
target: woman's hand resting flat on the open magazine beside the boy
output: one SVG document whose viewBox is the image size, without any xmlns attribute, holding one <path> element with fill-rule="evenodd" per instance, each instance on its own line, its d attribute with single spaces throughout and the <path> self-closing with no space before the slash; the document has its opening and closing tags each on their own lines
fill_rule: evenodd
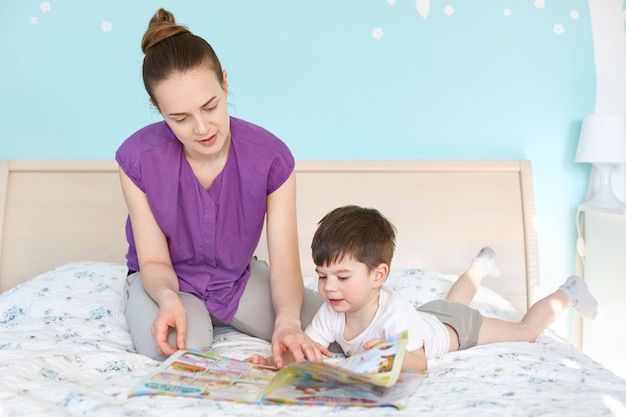
<svg viewBox="0 0 626 417">
<path fill-rule="evenodd" d="M 276 323 L 272 336 L 272 357 L 277 368 L 292 361 L 321 361 L 324 356 L 330 357 L 330 351 L 304 333 L 299 323 Z"/>
</svg>

